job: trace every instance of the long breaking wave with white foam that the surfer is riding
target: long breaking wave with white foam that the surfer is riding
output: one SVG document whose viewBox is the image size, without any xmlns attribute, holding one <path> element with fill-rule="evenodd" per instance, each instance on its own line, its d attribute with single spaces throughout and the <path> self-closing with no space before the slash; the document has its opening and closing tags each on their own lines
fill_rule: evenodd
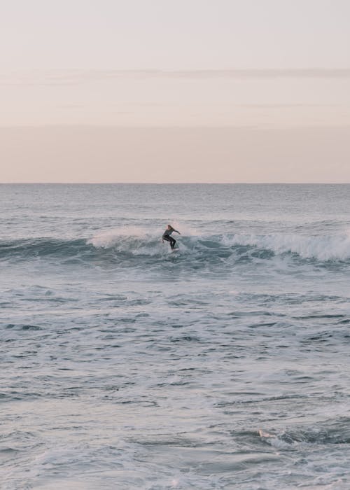
<svg viewBox="0 0 350 490">
<path fill-rule="evenodd" d="M 276 255 L 295 260 L 348 262 L 350 233 L 304 236 L 276 233 L 270 235 L 226 233 L 221 235 L 175 235 L 179 253 L 170 255 L 169 244 L 162 244 L 159 232 L 142 228 L 120 228 L 99 232 L 90 239 L 34 238 L 0 241 L 0 260 L 60 258 L 90 261 L 138 259 L 158 260 L 268 260 Z"/>
</svg>

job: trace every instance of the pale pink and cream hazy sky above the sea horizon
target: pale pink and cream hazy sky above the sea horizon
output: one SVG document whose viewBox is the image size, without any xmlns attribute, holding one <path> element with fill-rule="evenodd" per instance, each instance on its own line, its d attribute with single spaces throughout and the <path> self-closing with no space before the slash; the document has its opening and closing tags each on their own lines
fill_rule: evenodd
<svg viewBox="0 0 350 490">
<path fill-rule="evenodd" d="M 0 0 L 1 182 L 350 182 L 349 0 Z"/>
</svg>

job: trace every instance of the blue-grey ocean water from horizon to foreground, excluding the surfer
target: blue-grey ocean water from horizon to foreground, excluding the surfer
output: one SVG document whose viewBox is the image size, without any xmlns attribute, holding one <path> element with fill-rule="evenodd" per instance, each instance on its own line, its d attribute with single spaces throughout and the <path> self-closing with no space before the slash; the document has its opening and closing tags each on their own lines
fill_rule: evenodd
<svg viewBox="0 0 350 490">
<path fill-rule="evenodd" d="M 1 490 L 350 489 L 349 185 L 1 185 L 0 211 Z"/>
</svg>

